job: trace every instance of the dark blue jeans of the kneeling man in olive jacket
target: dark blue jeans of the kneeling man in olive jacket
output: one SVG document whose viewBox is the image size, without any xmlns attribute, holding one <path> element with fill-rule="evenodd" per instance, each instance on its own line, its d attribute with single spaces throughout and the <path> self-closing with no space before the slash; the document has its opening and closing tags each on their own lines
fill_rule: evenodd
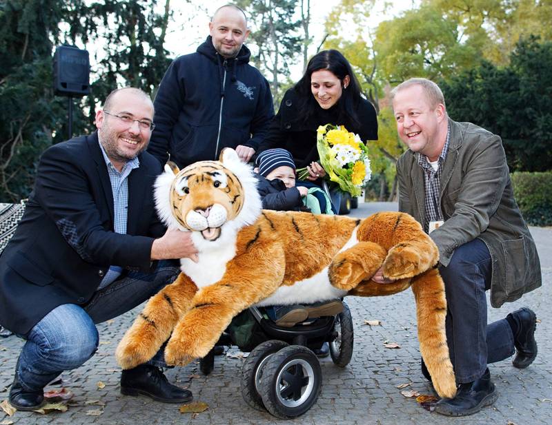
<svg viewBox="0 0 552 425">
<path fill-rule="evenodd" d="M 513 333 L 506 319 L 487 324 L 486 289 L 491 286 L 492 259 L 485 242 L 474 239 L 458 247 L 439 271 L 446 292 L 446 340 L 456 381 L 481 377 L 488 363 L 513 355 Z"/>
</svg>

